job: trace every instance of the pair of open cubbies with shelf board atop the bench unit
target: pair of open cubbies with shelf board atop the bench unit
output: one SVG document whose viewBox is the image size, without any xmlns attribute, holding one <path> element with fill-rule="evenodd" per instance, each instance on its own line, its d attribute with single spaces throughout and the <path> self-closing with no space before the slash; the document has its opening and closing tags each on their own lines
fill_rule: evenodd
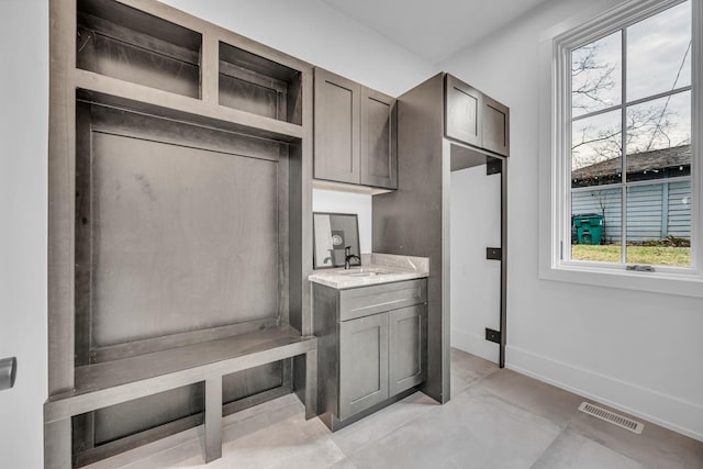
<svg viewBox="0 0 703 469">
<path fill-rule="evenodd" d="M 86 93 L 263 138 L 302 138 L 300 69 L 230 44 L 239 36 L 224 30 L 228 42 L 203 43 L 200 32 L 122 2 L 78 0 L 77 8 L 75 81 Z M 203 62 L 210 45 L 212 59 Z M 216 83 L 204 97 L 210 76 Z"/>
</svg>

